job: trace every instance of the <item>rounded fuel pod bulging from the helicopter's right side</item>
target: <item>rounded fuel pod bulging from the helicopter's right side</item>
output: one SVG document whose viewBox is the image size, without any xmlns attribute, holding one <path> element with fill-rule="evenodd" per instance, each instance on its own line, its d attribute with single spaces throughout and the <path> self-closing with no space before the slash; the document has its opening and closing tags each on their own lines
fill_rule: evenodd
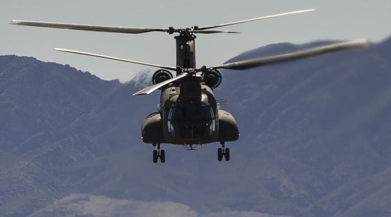
<svg viewBox="0 0 391 217">
<path fill-rule="evenodd" d="M 218 110 L 218 139 L 219 142 L 236 141 L 239 139 L 239 128 L 234 116 L 227 111 Z"/>
</svg>

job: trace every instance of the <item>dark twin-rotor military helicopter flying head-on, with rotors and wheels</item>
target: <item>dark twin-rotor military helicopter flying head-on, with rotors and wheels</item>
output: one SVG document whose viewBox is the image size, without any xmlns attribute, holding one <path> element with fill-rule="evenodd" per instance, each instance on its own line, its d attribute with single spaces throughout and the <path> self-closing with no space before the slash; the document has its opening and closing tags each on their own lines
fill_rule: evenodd
<svg viewBox="0 0 391 217">
<path fill-rule="evenodd" d="M 175 67 L 142 63 L 76 50 L 59 48 L 55 48 L 54 50 L 160 68 L 152 76 L 152 86 L 146 87 L 133 94 L 144 95 L 157 89 L 161 90 L 158 112 L 148 115 L 141 128 L 143 142 L 150 143 L 154 147 L 157 146 L 157 150 L 153 151 L 153 162 L 157 163 L 159 158 L 160 162 L 165 162 L 165 152 L 164 150 L 160 150 L 160 144 L 162 143 L 183 145 L 185 147 L 190 146 L 191 150 L 193 150 L 193 146 L 213 142 L 219 142 L 221 144 L 221 148 L 218 148 L 217 150 L 217 160 L 221 161 L 224 157 L 225 160 L 228 161 L 230 159 L 230 151 L 228 148 L 225 148 L 225 142 L 238 140 L 240 134 L 234 117 L 227 111 L 219 109 L 219 103 L 214 96 L 213 90 L 221 83 L 221 73 L 218 69 L 243 70 L 262 65 L 282 63 L 340 50 L 365 47 L 368 46 L 368 42 L 365 40 L 358 40 L 332 43 L 277 56 L 255 58 L 212 67 L 204 65 L 197 68 L 195 66 L 195 34 L 238 33 L 234 31 L 211 29 L 310 11 L 314 11 L 314 9 L 293 11 L 219 25 L 203 27 L 193 26 L 191 28 L 178 29 L 174 27 L 117 27 L 17 20 L 11 21 L 10 24 L 130 34 L 154 31 L 178 34 L 174 37 L 176 40 Z M 176 77 L 173 77 L 170 71 L 176 72 Z"/>
</svg>

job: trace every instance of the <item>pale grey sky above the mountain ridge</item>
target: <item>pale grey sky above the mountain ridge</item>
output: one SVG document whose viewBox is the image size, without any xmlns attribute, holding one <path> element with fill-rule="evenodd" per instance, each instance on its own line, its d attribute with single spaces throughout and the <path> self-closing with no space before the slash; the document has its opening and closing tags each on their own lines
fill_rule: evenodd
<svg viewBox="0 0 391 217">
<path fill-rule="evenodd" d="M 240 21 L 315 8 L 316 11 L 221 27 L 240 34 L 197 35 L 197 66 L 220 65 L 270 43 L 369 39 L 391 35 L 390 0 L 1 0 L 0 55 L 69 64 L 104 79 L 130 80 L 156 68 L 53 51 L 66 48 L 175 66 L 174 35 L 121 34 L 9 25 L 11 20 L 176 28 Z"/>
</svg>

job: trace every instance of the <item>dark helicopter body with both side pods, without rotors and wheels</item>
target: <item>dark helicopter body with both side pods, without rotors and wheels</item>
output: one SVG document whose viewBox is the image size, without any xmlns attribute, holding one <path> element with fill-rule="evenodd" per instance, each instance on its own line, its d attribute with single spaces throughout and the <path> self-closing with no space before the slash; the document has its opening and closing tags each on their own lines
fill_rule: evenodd
<svg viewBox="0 0 391 217">
<path fill-rule="evenodd" d="M 143 141 L 152 144 L 194 145 L 239 138 L 234 117 L 219 109 L 212 88 L 199 81 L 163 89 L 158 112 L 145 118 L 141 133 Z"/>
</svg>

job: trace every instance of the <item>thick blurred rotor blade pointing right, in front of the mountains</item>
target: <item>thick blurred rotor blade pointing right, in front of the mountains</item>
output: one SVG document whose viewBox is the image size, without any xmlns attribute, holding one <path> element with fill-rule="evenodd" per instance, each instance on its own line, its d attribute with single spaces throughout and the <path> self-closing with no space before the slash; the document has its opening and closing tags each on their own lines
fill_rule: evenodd
<svg viewBox="0 0 391 217">
<path fill-rule="evenodd" d="M 341 51 L 341 50 L 355 49 L 355 48 L 368 47 L 368 46 L 369 43 L 367 40 L 333 43 L 325 46 L 309 48 L 309 49 L 277 55 L 277 56 L 261 57 L 261 58 L 251 59 L 251 60 L 219 65 L 212 68 L 227 68 L 227 69 L 234 69 L 234 70 L 243 70 L 243 69 L 253 68 L 262 65 L 277 64 L 277 63 L 318 56 L 318 55 Z"/>
</svg>

